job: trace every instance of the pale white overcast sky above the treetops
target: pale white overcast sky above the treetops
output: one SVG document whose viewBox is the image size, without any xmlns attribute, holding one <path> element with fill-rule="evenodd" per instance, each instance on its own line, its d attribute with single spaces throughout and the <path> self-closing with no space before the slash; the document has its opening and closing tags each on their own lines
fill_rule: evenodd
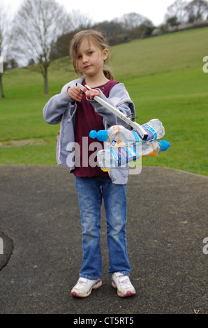
<svg viewBox="0 0 208 328">
<path fill-rule="evenodd" d="M 23 2 L 24 0 L 0 0 L 0 4 L 5 3 L 9 6 L 13 15 Z M 80 10 L 81 14 L 89 15 L 93 22 L 110 21 L 124 14 L 138 13 L 158 26 L 163 23 L 167 8 L 174 3 L 174 0 L 57 0 L 57 2 L 63 5 L 68 13 L 73 9 Z"/>
</svg>

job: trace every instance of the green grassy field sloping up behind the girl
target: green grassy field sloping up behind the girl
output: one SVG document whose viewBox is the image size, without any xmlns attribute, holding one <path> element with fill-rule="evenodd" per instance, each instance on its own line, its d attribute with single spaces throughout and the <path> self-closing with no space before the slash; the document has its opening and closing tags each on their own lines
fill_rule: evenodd
<svg viewBox="0 0 208 328">
<path fill-rule="evenodd" d="M 142 165 L 208 176 L 208 73 L 202 70 L 202 59 L 208 55 L 207 33 L 205 27 L 111 48 L 109 66 L 128 89 L 138 123 L 160 119 L 165 126 L 163 139 L 171 144 L 155 158 L 142 158 Z M 39 73 L 20 68 L 3 75 L 6 98 L 0 99 L 0 164 L 56 164 L 59 126 L 45 123 L 43 107 L 74 78 L 68 57 L 51 64 L 47 96 Z M 24 145 L 11 140 L 24 140 Z"/>
</svg>

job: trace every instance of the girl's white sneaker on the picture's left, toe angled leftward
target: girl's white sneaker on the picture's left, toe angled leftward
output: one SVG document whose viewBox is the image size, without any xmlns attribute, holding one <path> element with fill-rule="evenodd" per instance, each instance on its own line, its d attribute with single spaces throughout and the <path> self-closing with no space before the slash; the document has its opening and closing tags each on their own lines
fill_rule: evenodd
<svg viewBox="0 0 208 328">
<path fill-rule="evenodd" d="M 75 297 L 87 297 L 91 294 L 91 290 L 96 290 L 102 286 L 101 279 L 89 280 L 87 278 L 79 278 L 77 284 L 70 291 L 70 295 Z"/>
</svg>

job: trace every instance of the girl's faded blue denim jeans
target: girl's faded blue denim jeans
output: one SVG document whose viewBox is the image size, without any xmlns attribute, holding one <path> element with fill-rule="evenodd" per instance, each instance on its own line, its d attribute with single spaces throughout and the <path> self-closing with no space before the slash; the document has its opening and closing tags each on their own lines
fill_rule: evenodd
<svg viewBox="0 0 208 328">
<path fill-rule="evenodd" d="M 82 269 L 80 277 L 98 279 L 102 275 L 101 204 L 107 221 L 110 276 L 129 275 L 126 241 L 126 185 L 112 184 L 110 177 L 75 178 L 82 223 Z"/>
</svg>

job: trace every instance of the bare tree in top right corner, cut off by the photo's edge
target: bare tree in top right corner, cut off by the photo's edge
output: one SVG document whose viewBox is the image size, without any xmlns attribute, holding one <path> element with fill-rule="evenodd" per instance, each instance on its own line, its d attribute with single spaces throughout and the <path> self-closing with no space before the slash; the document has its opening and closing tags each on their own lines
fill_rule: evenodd
<svg viewBox="0 0 208 328">
<path fill-rule="evenodd" d="M 193 0 L 185 7 L 188 14 L 188 22 L 192 23 L 196 20 L 207 18 L 208 2 L 205 0 Z"/>
</svg>

